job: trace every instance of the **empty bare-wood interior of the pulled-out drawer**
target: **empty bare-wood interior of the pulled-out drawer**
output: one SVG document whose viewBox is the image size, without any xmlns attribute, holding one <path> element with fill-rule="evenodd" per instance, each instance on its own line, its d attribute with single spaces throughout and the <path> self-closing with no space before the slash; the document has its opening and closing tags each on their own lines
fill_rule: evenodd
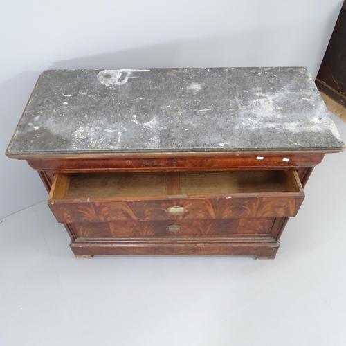
<svg viewBox="0 0 346 346">
<path fill-rule="evenodd" d="M 295 170 L 55 174 L 50 199 L 302 192 Z"/>
</svg>

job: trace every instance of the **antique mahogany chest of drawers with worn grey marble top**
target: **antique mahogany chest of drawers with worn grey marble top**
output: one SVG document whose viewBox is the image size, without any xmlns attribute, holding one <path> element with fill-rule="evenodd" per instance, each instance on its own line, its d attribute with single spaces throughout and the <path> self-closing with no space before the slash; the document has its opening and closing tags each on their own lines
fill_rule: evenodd
<svg viewBox="0 0 346 346">
<path fill-rule="evenodd" d="M 305 69 L 45 71 L 8 147 L 76 256 L 274 258 L 344 148 Z"/>
</svg>

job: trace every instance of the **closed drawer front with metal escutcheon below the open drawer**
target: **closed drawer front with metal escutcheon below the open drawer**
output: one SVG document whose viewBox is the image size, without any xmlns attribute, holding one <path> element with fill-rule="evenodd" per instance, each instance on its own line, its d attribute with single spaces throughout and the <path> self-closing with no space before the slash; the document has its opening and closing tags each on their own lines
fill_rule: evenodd
<svg viewBox="0 0 346 346">
<path fill-rule="evenodd" d="M 71 224 L 80 238 L 234 237 L 268 235 L 273 218 L 179 221 L 117 221 Z"/>
</svg>

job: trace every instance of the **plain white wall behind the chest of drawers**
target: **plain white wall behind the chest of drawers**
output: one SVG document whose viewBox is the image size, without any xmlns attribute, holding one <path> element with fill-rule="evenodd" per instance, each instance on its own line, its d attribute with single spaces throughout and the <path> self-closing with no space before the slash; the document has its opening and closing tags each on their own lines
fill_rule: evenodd
<svg viewBox="0 0 346 346">
<path fill-rule="evenodd" d="M 0 152 L 44 69 L 307 66 L 316 77 L 343 0 L 12 0 L 0 9 Z M 0 217 L 46 198 L 0 155 Z"/>
</svg>

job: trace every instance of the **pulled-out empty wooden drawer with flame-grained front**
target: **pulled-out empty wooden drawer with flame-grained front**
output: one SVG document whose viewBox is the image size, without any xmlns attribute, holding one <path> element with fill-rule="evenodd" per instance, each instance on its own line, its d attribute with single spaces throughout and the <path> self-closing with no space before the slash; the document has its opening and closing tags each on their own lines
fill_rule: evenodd
<svg viewBox="0 0 346 346">
<path fill-rule="evenodd" d="M 295 170 L 55 174 L 57 221 L 158 221 L 295 216 L 304 191 Z"/>
</svg>

